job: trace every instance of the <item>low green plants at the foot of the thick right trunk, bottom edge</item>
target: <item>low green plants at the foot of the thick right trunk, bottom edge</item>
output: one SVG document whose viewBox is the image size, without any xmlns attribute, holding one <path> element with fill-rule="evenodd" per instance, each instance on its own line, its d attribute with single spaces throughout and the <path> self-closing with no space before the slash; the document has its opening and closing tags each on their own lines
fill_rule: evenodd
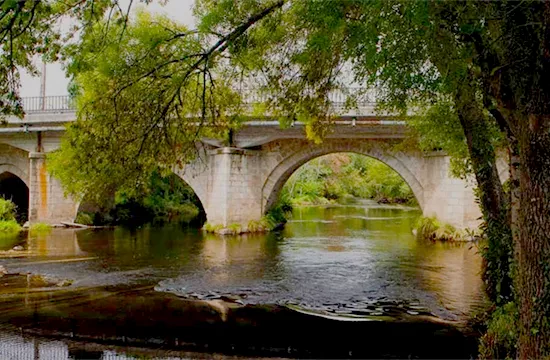
<svg viewBox="0 0 550 360">
<path fill-rule="evenodd" d="M 506 303 L 490 315 L 487 332 L 481 337 L 480 359 L 516 359 L 519 312 L 516 304 Z"/>
</svg>

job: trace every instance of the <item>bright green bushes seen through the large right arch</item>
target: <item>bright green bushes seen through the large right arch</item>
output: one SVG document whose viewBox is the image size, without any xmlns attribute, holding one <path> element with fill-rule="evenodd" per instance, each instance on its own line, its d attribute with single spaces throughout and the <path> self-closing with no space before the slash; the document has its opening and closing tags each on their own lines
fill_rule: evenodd
<svg viewBox="0 0 550 360">
<path fill-rule="evenodd" d="M 283 196 L 294 204 L 345 202 L 350 197 L 414 204 L 412 190 L 384 163 L 358 154 L 314 159 L 287 181 Z"/>
</svg>

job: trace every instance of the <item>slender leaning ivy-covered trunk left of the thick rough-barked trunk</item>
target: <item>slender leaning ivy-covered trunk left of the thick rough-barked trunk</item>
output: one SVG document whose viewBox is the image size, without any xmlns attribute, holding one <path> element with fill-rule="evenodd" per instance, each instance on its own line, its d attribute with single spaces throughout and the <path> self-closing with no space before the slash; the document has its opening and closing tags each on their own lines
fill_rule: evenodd
<svg viewBox="0 0 550 360">
<path fill-rule="evenodd" d="M 476 99 L 474 76 L 470 73 L 455 94 L 458 117 L 466 137 L 479 201 L 489 240 L 484 252 L 483 277 L 487 293 L 495 303 L 512 297 L 512 230 L 508 199 L 498 175 L 496 153 L 489 131 L 489 119 Z"/>
</svg>

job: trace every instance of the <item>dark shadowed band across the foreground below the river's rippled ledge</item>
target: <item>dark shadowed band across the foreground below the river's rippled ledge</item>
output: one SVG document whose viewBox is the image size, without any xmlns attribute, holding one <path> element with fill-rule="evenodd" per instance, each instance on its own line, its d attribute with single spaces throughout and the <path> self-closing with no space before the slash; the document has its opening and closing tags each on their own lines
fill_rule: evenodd
<svg viewBox="0 0 550 360">
<path fill-rule="evenodd" d="M 244 356 L 470 358 L 477 348 L 473 334 L 427 315 L 339 319 L 281 305 L 184 299 L 150 287 L 4 291 L 0 322 L 25 335 Z"/>
</svg>

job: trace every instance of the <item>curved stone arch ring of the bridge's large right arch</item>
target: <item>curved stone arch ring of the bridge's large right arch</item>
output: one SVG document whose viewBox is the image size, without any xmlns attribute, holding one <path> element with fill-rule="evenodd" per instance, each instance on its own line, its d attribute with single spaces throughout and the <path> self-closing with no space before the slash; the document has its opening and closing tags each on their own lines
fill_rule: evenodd
<svg viewBox="0 0 550 360">
<path fill-rule="evenodd" d="M 365 146 L 362 148 L 353 148 L 345 142 L 323 143 L 321 146 L 303 147 L 299 151 L 283 159 L 269 174 L 262 187 L 262 211 L 265 212 L 277 201 L 280 191 L 288 178 L 300 166 L 306 162 L 322 155 L 338 152 L 352 152 L 360 155 L 366 155 L 376 160 L 382 161 L 393 170 L 395 170 L 405 182 L 411 187 L 411 190 L 422 208 L 424 206 L 424 189 L 409 170 L 409 168 L 397 157 L 389 154 L 381 148 Z"/>
</svg>

